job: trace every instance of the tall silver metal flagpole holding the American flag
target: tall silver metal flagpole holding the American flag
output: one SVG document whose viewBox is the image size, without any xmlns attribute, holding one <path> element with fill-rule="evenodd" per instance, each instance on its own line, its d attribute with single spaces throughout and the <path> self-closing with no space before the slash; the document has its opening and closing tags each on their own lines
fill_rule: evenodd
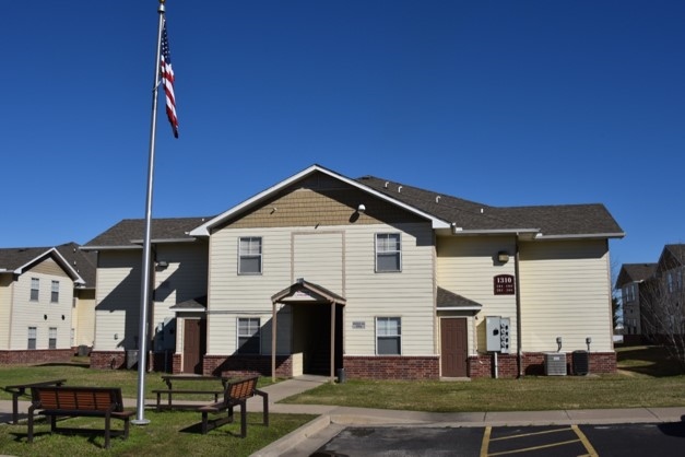
<svg viewBox="0 0 685 457">
<path fill-rule="evenodd" d="M 145 412 L 145 372 L 147 368 L 147 305 L 150 302 L 150 263 L 151 263 L 151 232 L 152 232 L 152 189 L 154 180 L 155 162 L 155 137 L 157 130 L 157 86 L 160 84 L 160 58 L 162 48 L 162 26 L 164 25 L 164 2 L 160 0 L 160 25 L 157 27 L 157 52 L 155 57 L 154 83 L 152 86 L 152 120 L 150 126 L 150 155 L 147 160 L 147 197 L 145 198 L 145 236 L 143 241 L 143 272 L 140 303 L 140 331 L 138 351 L 138 399 L 135 403 L 137 414 L 131 423 L 135 425 L 146 425 L 149 419 L 144 418 Z"/>
</svg>

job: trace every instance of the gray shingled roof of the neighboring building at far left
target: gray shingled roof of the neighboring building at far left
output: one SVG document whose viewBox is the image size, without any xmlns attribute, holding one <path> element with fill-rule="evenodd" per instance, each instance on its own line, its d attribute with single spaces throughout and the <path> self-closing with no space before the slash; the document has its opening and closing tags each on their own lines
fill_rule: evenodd
<svg viewBox="0 0 685 457">
<path fill-rule="evenodd" d="M 95 255 L 83 253 L 75 243 L 55 246 L 69 266 L 85 281 L 86 288 L 95 288 Z M 46 255 L 48 247 L 9 247 L 0 248 L 0 269 L 14 271 Z"/>
</svg>

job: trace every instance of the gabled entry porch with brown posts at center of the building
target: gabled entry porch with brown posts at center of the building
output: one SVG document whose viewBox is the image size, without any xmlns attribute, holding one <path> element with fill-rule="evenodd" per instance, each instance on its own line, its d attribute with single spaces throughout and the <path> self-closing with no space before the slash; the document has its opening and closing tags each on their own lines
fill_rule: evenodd
<svg viewBox="0 0 685 457">
<path fill-rule="evenodd" d="M 330 376 L 343 366 L 343 306 L 345 298 L 304 279 L 271 297 L 273 304 L 271 373 L 276 370 L 276 305 L 293 308 L 293 353 L 303 354 L 304 373 Z"/>
</svg>

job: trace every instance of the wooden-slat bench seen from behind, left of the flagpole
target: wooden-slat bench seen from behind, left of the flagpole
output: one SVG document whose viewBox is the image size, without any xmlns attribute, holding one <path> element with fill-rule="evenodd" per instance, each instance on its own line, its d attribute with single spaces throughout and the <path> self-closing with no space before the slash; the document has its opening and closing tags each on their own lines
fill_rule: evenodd
<svg viewBox="0 0 685 457">
<path fill-rule="evenodd" d="M 123 410 L 119 387 L 66 387 L 37 386 L 31 388 L 32 405 L 28 407 L 28 443 L 33 443 L 34 413 L 50 417 L 51 432 L 78 433 L 83 429 L 57 427 L 57 418 L 105 418 L 105 448 L 109 448 L 111 419 L 123 421 L 123 438 L 129 437 L 129 419 L 134 411 Z M 95 432 L 97 430 L 86 430 Z"/>
</svg>

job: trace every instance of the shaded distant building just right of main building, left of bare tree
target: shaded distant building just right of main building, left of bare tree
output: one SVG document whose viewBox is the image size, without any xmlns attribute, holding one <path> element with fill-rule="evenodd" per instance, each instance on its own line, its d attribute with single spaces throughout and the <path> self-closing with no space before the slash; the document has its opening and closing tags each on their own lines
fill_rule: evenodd
<svg viewBox="0 0 685 457">
<path fill-rule="evenodd" d="M 640 300 L 646 294 L 646 281 L 654 276 L 656 270 L 657 263 L 624 263 L 621 266 L 615 289 L 621 291 L 625 343 L 639 343 L 641 341 L 643 323 Z"/>
</svg>

